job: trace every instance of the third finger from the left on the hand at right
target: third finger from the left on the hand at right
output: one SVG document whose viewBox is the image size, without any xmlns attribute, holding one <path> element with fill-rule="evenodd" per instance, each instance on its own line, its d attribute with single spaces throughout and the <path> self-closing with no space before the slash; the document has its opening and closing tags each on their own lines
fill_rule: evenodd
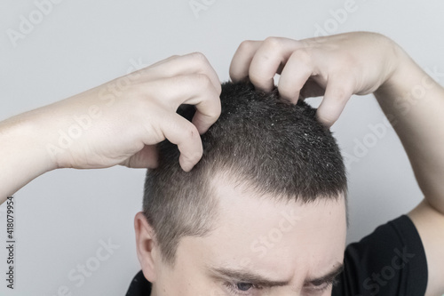
<svg viewBox="0 0 444 296">
<path fill-rule="evenodd" d="M 316 73 L 314 73 L 311 54 L 306 49 L 293 52 L 279 79 L 278 90 L 281 98 L 296 104 L 301 89 L 313 75 Z"/>
</svg>

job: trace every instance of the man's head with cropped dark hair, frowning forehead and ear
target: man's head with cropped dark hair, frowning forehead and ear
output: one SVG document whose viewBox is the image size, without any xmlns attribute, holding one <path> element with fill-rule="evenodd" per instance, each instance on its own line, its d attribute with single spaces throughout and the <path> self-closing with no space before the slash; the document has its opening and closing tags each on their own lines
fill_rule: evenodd
<svg viewBox="0 0 444 296">
<path fill-rule="evenodd" d="M 159 167 L 147 172 L 144 212 L 136 216 L 144 275 L 158 296 L 320 295 L 314 284 L 323 283 L 313 280 L 340 265 L 345 246 L 346 178 L 336 141 L 313 108 L 277 92 L 228 83 L 221 104 L 191 172 L 178 165 L 176 146 L 159 145 Z M 180 113 L 190 119 L 194 107 Z"/>
</svg>

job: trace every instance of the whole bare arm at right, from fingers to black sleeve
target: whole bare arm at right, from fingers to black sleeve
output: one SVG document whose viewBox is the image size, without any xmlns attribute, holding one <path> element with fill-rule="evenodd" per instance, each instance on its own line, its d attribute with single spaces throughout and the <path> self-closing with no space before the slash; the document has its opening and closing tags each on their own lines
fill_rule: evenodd
<svg viewBox="0 0 444 296">
<path fill-rule="evenodd" d="M 269 91 L 281 74 L 281 96 L 323 96 L 317 111 L 334 124 L 353 94 L 374 93 L 408 155 L 424 200 L 408 213 L 424 244 L 426 296 L 444 292 L 444 89 L 389 38 L 354 32 L 305 40 L 244 41 L 230 67 L 233 81 Z M 418 92 L 420 90 L 420 92 Z"/>
</svg>

